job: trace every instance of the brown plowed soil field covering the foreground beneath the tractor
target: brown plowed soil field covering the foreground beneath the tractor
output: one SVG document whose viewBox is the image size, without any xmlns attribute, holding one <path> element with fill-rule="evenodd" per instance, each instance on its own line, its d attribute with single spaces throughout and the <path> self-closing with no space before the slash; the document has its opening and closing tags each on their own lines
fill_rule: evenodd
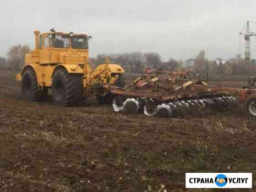
<svg viewBox="0 0 256 192">
<path fill-rule="evenodd" d="M 0 71 L 1 192 L 182 191 L 186 172 L 252 172 L 255 182 L 256 121 L 240 106 L 162 119 L 93 97 L 28 102 L 14 73 Z"/>
</svg>

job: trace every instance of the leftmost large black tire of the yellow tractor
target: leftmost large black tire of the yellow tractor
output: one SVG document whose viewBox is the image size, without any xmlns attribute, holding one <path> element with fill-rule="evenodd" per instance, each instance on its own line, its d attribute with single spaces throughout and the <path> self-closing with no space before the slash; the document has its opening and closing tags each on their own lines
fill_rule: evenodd
<svg viewBox="0 0 256 192">
<path fill-rule="evenodd" d="M 22 73 L 21 79 L 22 96 L 29 101 L 45 101 L 47 100 L 48 89 L 38 90 L 37 75 L 32 68 L 27 68 Z"/>
</svg>

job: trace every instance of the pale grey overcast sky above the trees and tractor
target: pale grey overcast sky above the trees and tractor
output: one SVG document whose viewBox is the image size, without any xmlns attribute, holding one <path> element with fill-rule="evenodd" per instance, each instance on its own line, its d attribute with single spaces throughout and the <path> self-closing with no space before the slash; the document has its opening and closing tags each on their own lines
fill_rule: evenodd
<svg viewBox="0 0 256 192">
<path fill-rule="evenodd" d="M 256 0 L 2 0 L 0 18 L 1 56 L 16 44 L 34 48 L 33 31 L 55 27 L 91 35 L 91 57 L 141 51 L 160 53 L 165 61 L 204 49 L 208 59 L 229 59 L 239 52 L 245 22 L 256 22 Z M 242 56 L 244 47 L 242 40 Z M 251 37 L 252 58 L 255 47 Z"/>
</svg>

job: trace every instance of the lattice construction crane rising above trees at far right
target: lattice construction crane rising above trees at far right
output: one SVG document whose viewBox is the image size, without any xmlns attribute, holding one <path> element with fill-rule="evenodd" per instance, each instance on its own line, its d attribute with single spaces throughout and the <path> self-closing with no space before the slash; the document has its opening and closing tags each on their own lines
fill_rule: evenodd
<svg viewBox="0 0 256 192">
<path fill-rule="evenodd" d="M 256 32 L 250 31 L 249 21 L 246 22 L 245 26 L 246 26 L 245 32 L 243 32 L 244 31 L 244 28 L 243 28 L 242 31 L 239 33 L 239 35 L 243 35 L 245 37 L 245 60 L 251 60 L 250 37 L 256 36 Z M 239 56 L 241 57 L 240 51 L 239 51 Z"/>
</svg>

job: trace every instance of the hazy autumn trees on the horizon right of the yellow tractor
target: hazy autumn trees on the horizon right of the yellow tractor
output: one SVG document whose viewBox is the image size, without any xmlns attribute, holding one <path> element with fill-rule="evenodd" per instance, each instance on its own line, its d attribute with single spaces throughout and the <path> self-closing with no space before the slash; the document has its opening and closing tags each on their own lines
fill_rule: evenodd
<svg viewBox="0 0 256 192">
<path fill-rule="evenodd" d="M 197 74 L 209 73 L 211 75 L 247 75 L 248 62 L 240 58 L 224 60 L 216 58 L 209 60 L 205 57 L 205 51 L 202 50 L 194 59 L 173 59 L 170 58 L 166 62 L 161 60 L 159 53 L 122 53 L 122 54 L 99 54 L 96 58 L 91 58 L 92 66 L 104 63 L 105 59 L 110 59 L 111 63 L 120 64 L 126 72 L 140 73 L 145 68 L 170 69 L 172 71 L 192 71 Z"/>
</svg>

